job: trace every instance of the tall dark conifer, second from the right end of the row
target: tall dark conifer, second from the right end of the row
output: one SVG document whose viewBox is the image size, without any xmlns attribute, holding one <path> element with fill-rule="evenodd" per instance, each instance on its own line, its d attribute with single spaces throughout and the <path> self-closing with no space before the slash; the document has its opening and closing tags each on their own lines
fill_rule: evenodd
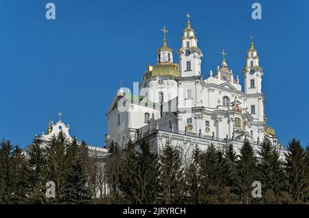
<svg viewBox="0 0 309 218">
<path fill-rule="evenodd" d="M 262 192 L 268 191 L 267 196 L 275 197 L 284 188 L 284 171 L 279 160 L 279 154 L 269 138 L 264 138 L 260 148 L 260 161 L 258 163 L 259 181 L 262 183 Z M 270 202 L 273 202 L 271 199 Z"/>
</svg>

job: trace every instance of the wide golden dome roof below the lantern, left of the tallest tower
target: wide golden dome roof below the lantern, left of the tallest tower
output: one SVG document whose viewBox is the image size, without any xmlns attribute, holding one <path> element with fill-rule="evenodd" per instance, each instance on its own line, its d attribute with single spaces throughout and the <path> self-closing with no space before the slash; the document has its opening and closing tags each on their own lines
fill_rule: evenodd
<svg viewBox="0 0 309 218">
<path fill-rule="evenodd" d="M 159 75 L 165 77 L 179 77 L 178 64 L 159 63 L 152 67 L 148 66 L 148 70 L 144 74 L 143 79 L 147 80 L 150 77 L 157 77 Z"/>
</svg>

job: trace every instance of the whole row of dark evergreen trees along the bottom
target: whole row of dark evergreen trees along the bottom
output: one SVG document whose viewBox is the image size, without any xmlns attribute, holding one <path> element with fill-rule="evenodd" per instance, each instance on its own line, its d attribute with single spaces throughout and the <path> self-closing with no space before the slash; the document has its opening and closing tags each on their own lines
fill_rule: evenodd
<svg viewBox="0 0 309 218">
<path fill-rule="evenodd" d="M 0 204 L 307 204 L 309 200 L 309 147 L 304 150 L 295 139 L 284 163 L 268 138 L 258 156 L 247 140 L 239 156 L 232 145 L 209 145 L 203 152 L 196 146 L 191 156 L 184 156 L 170 143 L 158 156 L 146 140 L 128 141 L 124 149 L 111 142 L 108 151 L 107 157 L 90 156 L 87 143 L 68 141 L 60 132 L 47 147 L 34 138 L 26 158 L 19 147 L 3 140 Z M 182 162 L 190 158 L 191 162 Z M 45 196 L 48 181 L 56 184 L 56 198 Z M 262 183 L 262 198 L 251 195 L 254 181 Z"/>
</svg>

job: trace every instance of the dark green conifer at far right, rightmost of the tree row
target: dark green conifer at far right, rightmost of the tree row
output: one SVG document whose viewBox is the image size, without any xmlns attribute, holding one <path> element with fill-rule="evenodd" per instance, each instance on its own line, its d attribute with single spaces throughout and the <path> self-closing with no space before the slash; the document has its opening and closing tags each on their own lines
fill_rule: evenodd
<svg viewBox="0 0 309 218">
<path fill-rule="evenodd" d="M 288 154 L 286 154 L 286 175 L 288 179 L 289 193 L 297 204 L 304 203 L 308 183 L 306 181 L 305 152 L 301 143 L 295 138 L 288 143 Z"/>
</svg>

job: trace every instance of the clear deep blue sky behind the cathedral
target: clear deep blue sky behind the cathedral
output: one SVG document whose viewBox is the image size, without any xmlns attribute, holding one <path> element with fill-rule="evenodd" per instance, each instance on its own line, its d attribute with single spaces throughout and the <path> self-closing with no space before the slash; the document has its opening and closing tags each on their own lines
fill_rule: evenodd
<svg viewBox="0 0 309 218">
<path fill-rule="evenodd" d="M 56 21 L 45 4 L 56 4 Z M 262 4 L 262 20 L 251 5 Z M 21 147 L 45 132 L 48 117 L 71 126 L 71 135 L 102 146 L 106 111 L 120 80 L 132 88 L 156 61 L 161 27 L 180 47 L 192 14 L 206 78 L 220 51 L 239 75 L 254 36 L 264 68 L 268 124 L 279 141 L 309 143 L 309 1 L 0 1 L 0 136 Z"/>
</svg>

